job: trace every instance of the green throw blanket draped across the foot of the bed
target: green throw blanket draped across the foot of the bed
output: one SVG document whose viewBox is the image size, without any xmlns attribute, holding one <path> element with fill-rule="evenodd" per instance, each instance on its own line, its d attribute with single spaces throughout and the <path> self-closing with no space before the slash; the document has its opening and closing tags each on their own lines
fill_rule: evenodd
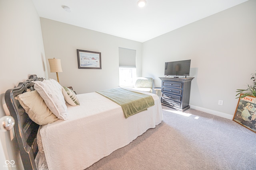
<svg viewBox="0 0 256 170">
<path fill-rule="evenodd" d="M 97 93 L 119 104 L 124 111 L 125 118 L 147 110 L 155 104 L 152 96 L 123 88 L 102 90 Z"/>
</svg>

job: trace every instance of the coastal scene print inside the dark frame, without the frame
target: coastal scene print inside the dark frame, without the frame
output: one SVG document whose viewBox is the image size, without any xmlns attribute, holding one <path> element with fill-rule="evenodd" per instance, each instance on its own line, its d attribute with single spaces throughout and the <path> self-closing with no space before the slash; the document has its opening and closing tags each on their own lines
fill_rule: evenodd
<svg viewBox="0 0 256 170">
<path fill-rule="evenodd" d="M 100 56 L 95 53 L 79 52 L 81 67 L 100 68 Z"/>
</svg>

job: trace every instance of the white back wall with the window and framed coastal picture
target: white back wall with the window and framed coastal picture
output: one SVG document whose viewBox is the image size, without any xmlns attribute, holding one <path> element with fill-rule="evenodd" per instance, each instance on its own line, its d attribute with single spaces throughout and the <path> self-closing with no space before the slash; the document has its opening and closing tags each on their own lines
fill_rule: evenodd
<svg viewBox="0 0 256 170">
<path fill-rule="evenodd" d="M 77 94 L 119 86 L 118 47 L 136 50 L 137 74 L 142 74 L 142 43 L 90 29 L 40 18 L 46 59 L 61 59 L 58 73 L 62 86 L 72 86 Z M 76 49 L 101 52 L 102 69 L 78 69 Z M 56 80 L 56 73 L 49 78 Z"/>
</svg>

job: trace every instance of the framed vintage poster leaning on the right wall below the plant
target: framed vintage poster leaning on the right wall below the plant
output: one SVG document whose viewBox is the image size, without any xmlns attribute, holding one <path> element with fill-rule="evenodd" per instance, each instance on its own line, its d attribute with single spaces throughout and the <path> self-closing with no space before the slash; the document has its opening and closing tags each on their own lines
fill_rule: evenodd
<svg viewBox="0 0 256 170">
<path fill-rule="evenodd" d="M 256 133 L 256 98 L 254 96 L 239 98 L 233 121 Z"/>
</svg>

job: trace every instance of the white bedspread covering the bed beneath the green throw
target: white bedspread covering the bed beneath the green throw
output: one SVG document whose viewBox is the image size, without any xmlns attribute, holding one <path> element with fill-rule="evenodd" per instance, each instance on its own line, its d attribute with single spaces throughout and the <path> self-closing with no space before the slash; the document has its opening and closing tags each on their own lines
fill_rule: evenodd
<svg viewBox="0 0 256 170">
<path fill-rule="evenodd" d="M 80 106 L 67 104 L 68 120 L 40 130 L 49 170 L 84 170 L 156 127 L 163 119 L 161 102 L 155 94 L 146 94 L 155 105 L 127 119 L 121 106 L 104 96 L 78 94 Z"/>
</svg>

